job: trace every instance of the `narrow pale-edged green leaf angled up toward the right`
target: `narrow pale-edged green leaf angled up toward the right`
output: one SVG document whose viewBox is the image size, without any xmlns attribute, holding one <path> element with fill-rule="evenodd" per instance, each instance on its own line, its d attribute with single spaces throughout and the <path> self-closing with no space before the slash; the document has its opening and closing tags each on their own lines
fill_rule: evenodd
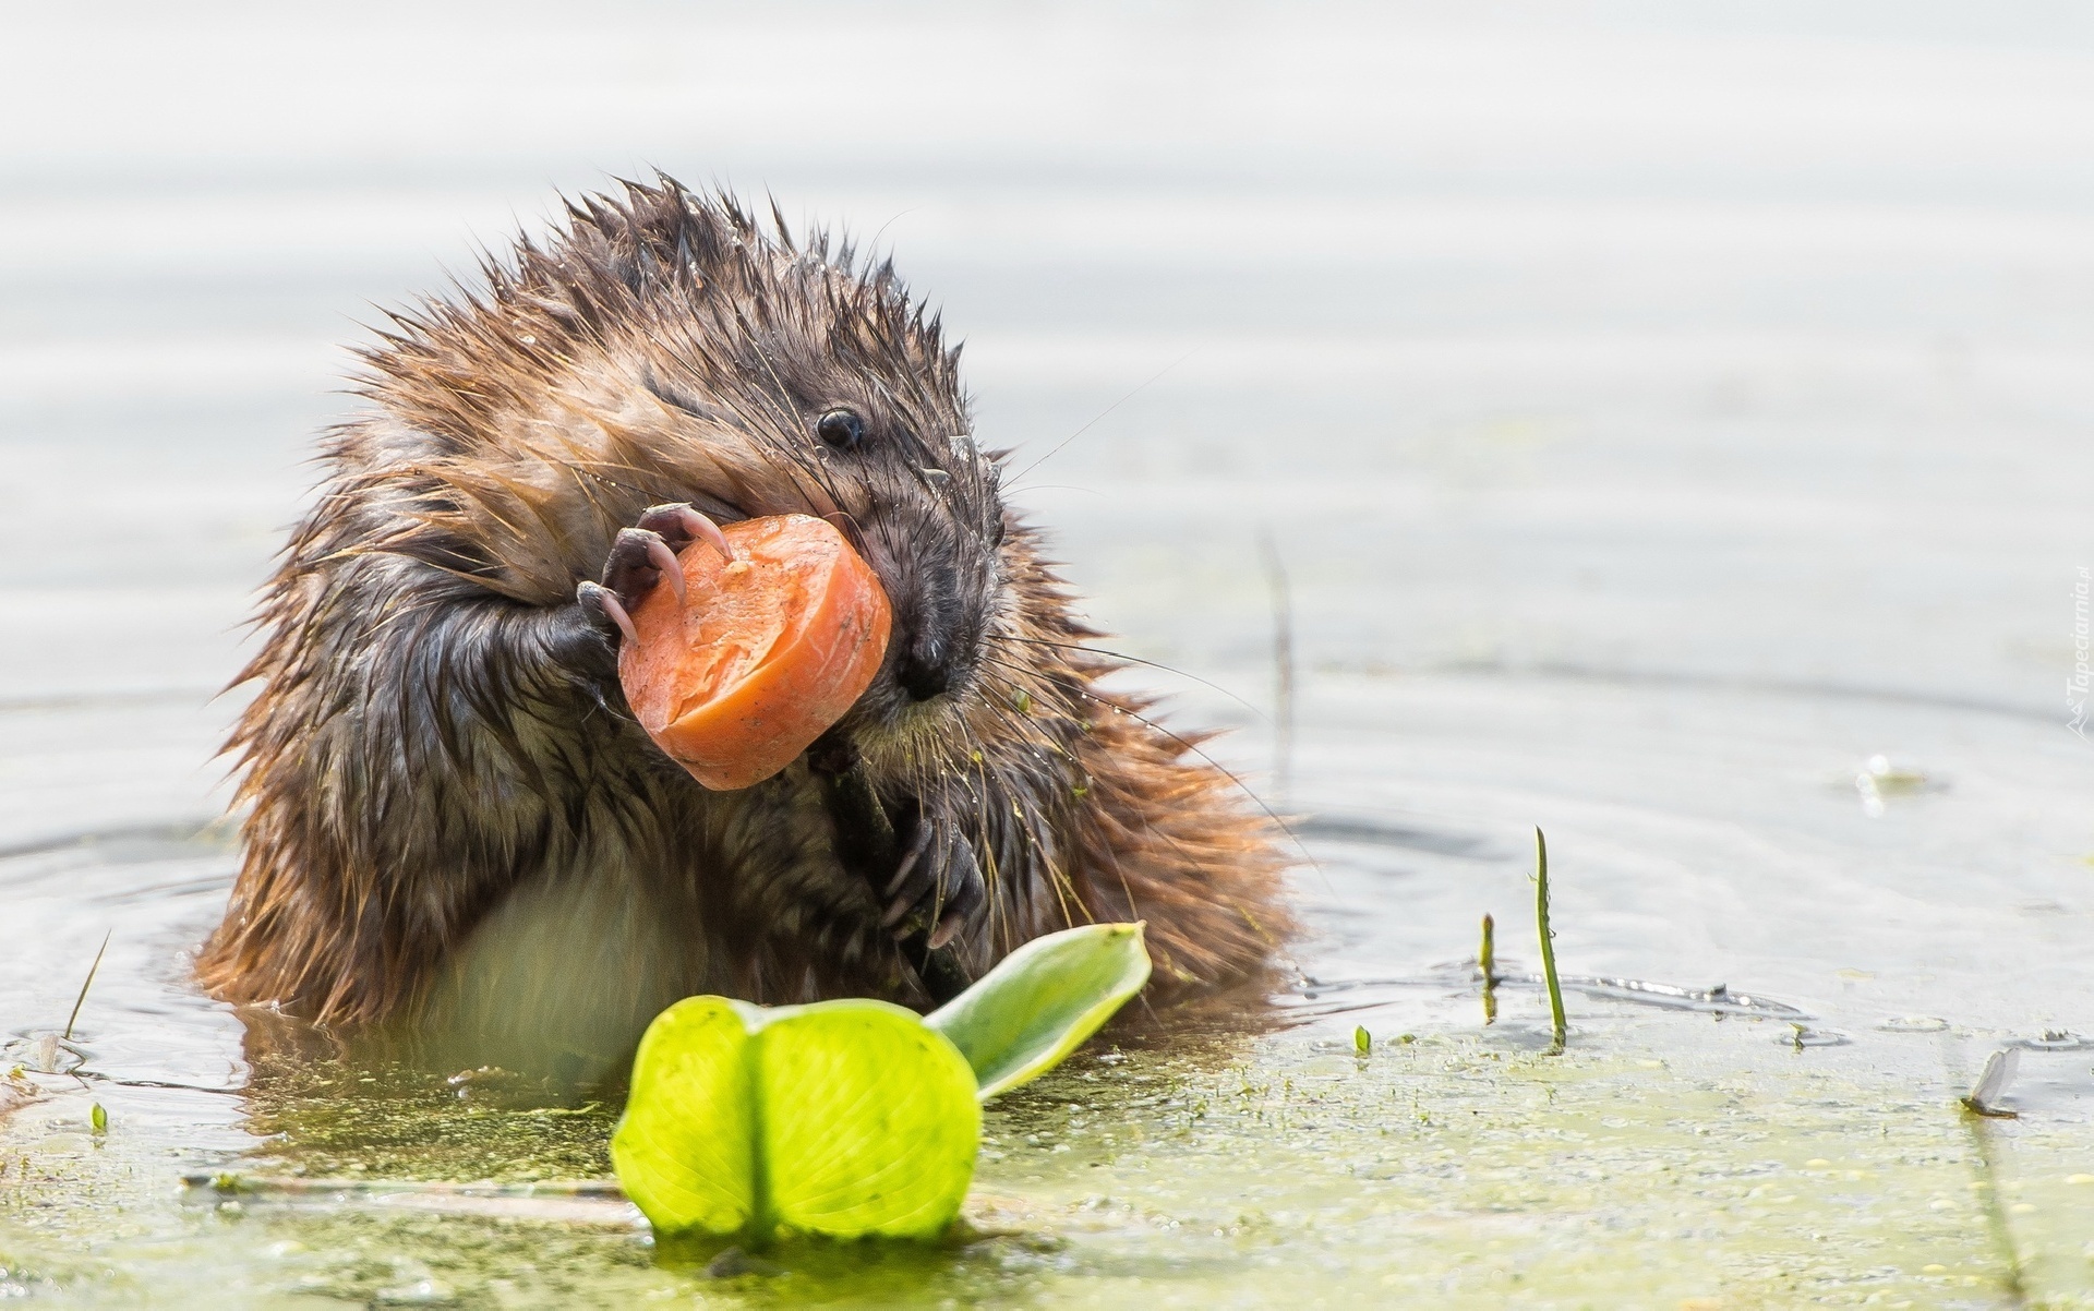
<svg viewBox="0 0 2094 1311">
<path fill-rule="evenodd" d="M 1141 991 L 1141 924 L 1085 924 L 1034 938 L 923 1018 L 974 1066 L 986 1102 L 1051 1070 Z"/>
</svg>

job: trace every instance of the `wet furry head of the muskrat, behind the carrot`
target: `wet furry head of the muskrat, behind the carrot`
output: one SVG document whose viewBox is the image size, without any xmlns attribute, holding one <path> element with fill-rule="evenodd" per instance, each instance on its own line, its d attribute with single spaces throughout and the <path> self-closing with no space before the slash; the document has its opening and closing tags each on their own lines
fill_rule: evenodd
<svg viewBox="0 0 2094 1311">
<path fill-rule="evenodd" d="M 647 505 L 827 517 L 894 614 L 842 727 L 871 756 L 951 741 L 1016 664 L 1026 534 L 1001 452 L 976 446 L 959 348 L 892 268 L 773 220 L 668 178 L 626 184 L 488 260 L 484 295 L 398 316 L 369 392 L 436 452 L 396 480 L 417 530 L 392 547 L 555 603 Z"/>
</svg>

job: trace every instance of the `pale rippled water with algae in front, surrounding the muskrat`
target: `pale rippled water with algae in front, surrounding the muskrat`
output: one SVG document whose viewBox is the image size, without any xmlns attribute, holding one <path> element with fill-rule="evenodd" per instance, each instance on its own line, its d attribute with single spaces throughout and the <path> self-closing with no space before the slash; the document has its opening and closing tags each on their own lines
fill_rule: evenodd
<svg viewBox="0 0 2094 1311">
<path fill-rule="evenodd" d="M 2019 1267 L 2031 1301 L 2094 1298 L 2094 1058 L 2063 1037 L 2094 1035 L 2077 10 L 23 6 L 8 31 L 15 1060 L 109 955 L 75 1035 L 103 1079 L 25 1072 L 42 1095 L 0 1129 L 0 1290 L 2000 1307 Z M 329 1066 L 243 1093 L 243 1028 L 184 953 L 235 863 L 203 831 L 241 699 L 214 695 L 350 404 L 352 320 L 647 163 L 894 249 L 967 339 L 980 436 L 1051 452 L 1020 494 L 1093 616 L 1242 697 L 1141 674 L 1235 729 L 1217 750 L 1267 794 L 1261 538 L 1290 576 L 1305 1024 L 1106 1049 L 1011 1099 L 970 1204 L 993 1236 L 955 1252 L 710 1280 L 614 1202 L 178 1185 L 603 1169 L 609 1108 Z M 1483 913 L 1535 968 L 1535 825 L 1564 970 L 1661 988 L 1573 993 L 1564 1058 L 1533 988 L 1485 1026 L 1466 968 Z M 1801 1018 L 1711 1009 L 1717 984 Z M 2021 1118 L 1964 1118 L 2008 1043 Z"/>
</svg>

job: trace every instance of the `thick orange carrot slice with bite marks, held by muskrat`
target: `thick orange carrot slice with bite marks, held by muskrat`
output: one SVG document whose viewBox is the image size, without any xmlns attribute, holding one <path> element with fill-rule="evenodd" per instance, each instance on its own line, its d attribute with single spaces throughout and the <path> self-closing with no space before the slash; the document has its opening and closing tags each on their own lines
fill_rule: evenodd
<svg viewBox="0 0 2094 1311">
<path fill-rule="evenodd" d="M 735 559 L 683 549 L 685 597 L 655 586 L 618 679 L 641 727 L 706 787 L 792 764 L 879 672 L 888 595 L 844 534 L 812 515 L 722 528 Z"/>
</svg>

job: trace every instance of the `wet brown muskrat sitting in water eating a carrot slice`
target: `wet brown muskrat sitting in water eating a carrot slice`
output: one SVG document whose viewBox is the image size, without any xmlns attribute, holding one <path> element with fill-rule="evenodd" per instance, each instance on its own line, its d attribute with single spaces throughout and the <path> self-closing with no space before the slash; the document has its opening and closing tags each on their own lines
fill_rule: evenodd
<svg viewBox="0 0 2094 1311">
<path fill-rule="evenodd" d="M 607 1060 L 691 993 L 923 1007 L 907 924 L 965 976 L 1101 919 L 1148 921 L 1162 997 L 1267 968 L 1275 825 L 1097 685 L 1120 664 L 1005 505 L 938 318 L 773 220 L 626 182 L 362 352 L 369 406 L 235 679 L 260 689 L 226 746 L 245 857 L 199 957 L 216 997 Z M 787 511 L 844 528 L 894 637 L 815 752 L 708 792 L 624 704 L 622 618 L 708 521 Z M 840 766 L 892 825 L 877 869 Z"/>
</svg>

